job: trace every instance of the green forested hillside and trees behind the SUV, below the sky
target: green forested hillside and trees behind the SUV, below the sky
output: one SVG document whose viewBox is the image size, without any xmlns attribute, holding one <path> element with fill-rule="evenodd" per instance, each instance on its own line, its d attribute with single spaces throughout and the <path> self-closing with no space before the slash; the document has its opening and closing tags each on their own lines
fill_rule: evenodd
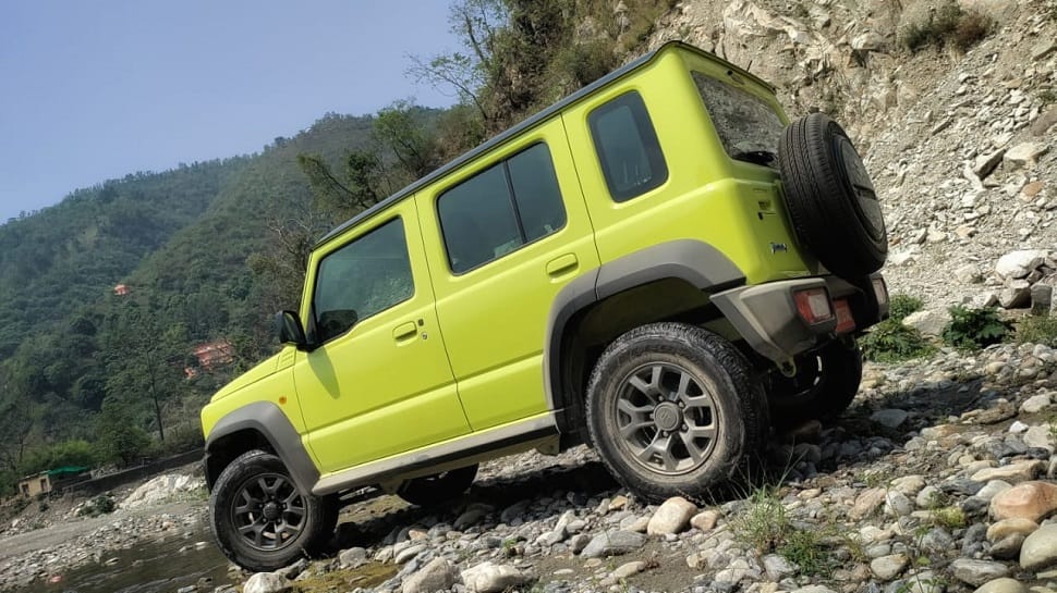
<svg viewBox="0 0 1057 593">
<path fill-rule="evenodd" d="M 450 109 L 326 114 L 259 153 L 107 181 L 0 226 L 0 494 L 199 443 L 202 404 L 276 348 L 271 314 L 296 307 L 316 238 L 602 76 L 670 4 L 462 0 L 464 47 L 409 62 Z M 196 357 L 207 344 L 221 356 Z"/>
</svg>

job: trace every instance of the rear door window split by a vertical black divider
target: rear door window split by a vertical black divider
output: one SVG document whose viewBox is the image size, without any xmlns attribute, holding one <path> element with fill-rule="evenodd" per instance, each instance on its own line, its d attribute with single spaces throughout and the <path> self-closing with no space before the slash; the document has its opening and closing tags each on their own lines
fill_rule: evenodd
<svg viewBox="0 0 1057 593">
<path fill-rule="evenodd" d="M 566 225 L 550 150 L 536 144 L 437 199 L 448 263 L 455 274 L 498 259 Z"/>
</svg>

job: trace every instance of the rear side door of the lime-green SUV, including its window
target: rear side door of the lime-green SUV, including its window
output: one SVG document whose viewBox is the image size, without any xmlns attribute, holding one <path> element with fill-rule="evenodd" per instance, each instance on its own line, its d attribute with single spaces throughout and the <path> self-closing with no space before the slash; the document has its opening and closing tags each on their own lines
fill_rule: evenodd
<svg viewBox="0 0 1057 593">
<path fill-rule="evenodd" d="M 551 302 L 598 267 L 561 121 L 490 151 L 416 199 L 437 313 L 471 427 L 545 413 Z"/>
</svg>

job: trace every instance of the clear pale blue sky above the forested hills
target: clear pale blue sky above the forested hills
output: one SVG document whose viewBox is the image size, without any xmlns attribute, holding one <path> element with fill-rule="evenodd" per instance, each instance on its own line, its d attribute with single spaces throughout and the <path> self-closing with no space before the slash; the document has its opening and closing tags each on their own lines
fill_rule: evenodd
<svg viewBox="0 0 1057 593">
<path fill-rule="evenodd" d="M 328 111 L 452 102 L 442 0 L 0 0 L 0 223 L 78 187 L 254 151 Z"/>
</svg>

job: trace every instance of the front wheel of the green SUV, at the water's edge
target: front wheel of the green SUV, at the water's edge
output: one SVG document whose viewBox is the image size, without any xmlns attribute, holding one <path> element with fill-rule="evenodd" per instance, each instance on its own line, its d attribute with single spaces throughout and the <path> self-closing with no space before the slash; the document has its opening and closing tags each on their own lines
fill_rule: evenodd
<svg viewBox="0 0 1057 593">
<path fill-rule="evenodd" d="M 271 495 L 269 487 L 276 489 Z M 247 510 L 269 504 L 276 506 Z M 278 508 L 282 506 L 285 508 Z M 251 519 L 255 521 L 245 522 Z M 209 495 L 209 524 L 217 545 L 231 561 L 255 572 L 276 570 L 319 552 L 333 535 L 337 521 L 335 497 L 297 490 L 282 460 L 265 450 L 254 449 L 236 457 L 220 472 Z M 296 529 L 283 536 L 269 533 L 269 524 L 272 529 L 294 529 L 295 524 Z M 250 531 L 240 532 L 240 527 Z M 255 535 L 259 539 L 251 543 Z"/>
</svg>

